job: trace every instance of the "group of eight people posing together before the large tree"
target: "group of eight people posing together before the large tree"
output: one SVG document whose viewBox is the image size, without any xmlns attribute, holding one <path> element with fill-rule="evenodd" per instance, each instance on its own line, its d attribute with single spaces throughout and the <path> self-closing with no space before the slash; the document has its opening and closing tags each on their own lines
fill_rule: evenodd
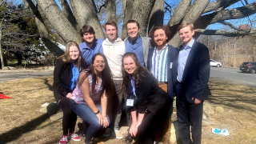
<svg viewBox="0 0 256 144">
<path fill-rule="evenodd" d="M 54 68 L 54 98 L 63 111 L 59 144 L 81 141 L 74 133 L 77 115 L 83 120 L 85 144 L 104 143 L 100 137 L 110 134 L 123 138 L 119 131 L 123 101 L 129 126 L 126 143 L 168 144 L 174 97 L 182 142 L 201 143 L 210 56 L 208 48 L 194 40 L 193 24 L 178 27 L 182 40 L 178 49 L 167 44 L 169 26 L 154 26 L 150 38 L 138 34 L 136 20 L 128 21 L 126 28 L 128 37 L 122 41 L 117 24 L 106 22 L 103 40 L 85 25 L 82 44 L 66 44 Z"/>
</svg>

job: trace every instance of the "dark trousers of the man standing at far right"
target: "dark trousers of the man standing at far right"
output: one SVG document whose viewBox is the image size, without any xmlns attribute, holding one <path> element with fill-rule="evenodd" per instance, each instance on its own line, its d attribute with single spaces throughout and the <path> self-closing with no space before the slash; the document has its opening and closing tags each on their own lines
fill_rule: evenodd
<svg viewBox="0 0 256 144">
<path fill-rule="evenodd" d="M 198 105 L 187 102 L 185 90 L 181 83 L 178 83 L 176 86 L 176 96 L 180 138 L 184 144 L 200 144 L 202 135 L 203 101 Z M 190 140 L 190 125 L 193 142 Z"/>
</svg>

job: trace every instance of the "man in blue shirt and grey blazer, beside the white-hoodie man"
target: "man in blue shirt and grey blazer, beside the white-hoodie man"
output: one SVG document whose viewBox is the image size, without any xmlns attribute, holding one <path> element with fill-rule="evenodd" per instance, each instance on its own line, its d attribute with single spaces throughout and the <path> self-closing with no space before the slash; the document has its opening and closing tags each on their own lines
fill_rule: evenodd
<svg viewBox="0 0 256 144">
<path fill-rule="evenodd" d="M 126 53 L 135 53 L 138 57 L 138 61 L 142 66 L 147 66 L 147 57 L 149 54 L 150 38 L 141 37 L 139 32 L 139 23 L 136 20 L 129 20 L 127 22 L 127 34 L 128 38 L 125 38 Z"/>
</svg>

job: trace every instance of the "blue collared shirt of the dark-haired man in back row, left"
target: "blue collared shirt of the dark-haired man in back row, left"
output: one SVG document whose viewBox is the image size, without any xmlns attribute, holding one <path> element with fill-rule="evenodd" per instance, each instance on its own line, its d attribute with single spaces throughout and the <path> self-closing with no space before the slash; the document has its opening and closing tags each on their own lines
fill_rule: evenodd
<svg viewBox="0 0 256 144">
<path fill-rule="evenodd" d="M 82 58 L 86 60 L 86 66 L 90 66 L 91 64 L 91 59 L 93 58 L 94 54 L 97 53 L 102 53 L 102 42 L 104 39 L 102 38 L 97 38 L 94 41 L 94 45 L 92 47 L 88 47 L 86 45 L 86 42 L 82 42 L 82 44 L 79 46 L 79 49 L 81 50 L 82 53 Z"/>
</svg>

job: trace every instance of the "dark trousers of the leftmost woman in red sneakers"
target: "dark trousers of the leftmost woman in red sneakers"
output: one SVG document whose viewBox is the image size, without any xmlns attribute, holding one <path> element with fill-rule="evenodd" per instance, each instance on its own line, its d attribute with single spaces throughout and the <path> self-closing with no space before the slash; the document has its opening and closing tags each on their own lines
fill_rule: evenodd
<svg viewBox="0 0 256 144">
<path fill-rule="evenodd" d="M 58 106 L 63 111 L 62 118 L 62 130 L 63 135 L 67 135 L 70 130 L 70 134 L 74 133 L 74 126 L 77 122 L 77 114 L 73 112 L 70 107 L 70 98 L 63 97 L 59 102 Z"/>
</svg>

